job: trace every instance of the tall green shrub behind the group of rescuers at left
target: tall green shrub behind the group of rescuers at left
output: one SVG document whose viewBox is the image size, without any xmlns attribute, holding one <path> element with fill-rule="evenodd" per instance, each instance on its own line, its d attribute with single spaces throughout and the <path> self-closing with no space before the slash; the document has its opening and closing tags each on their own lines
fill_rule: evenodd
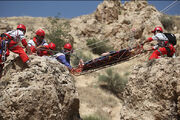
<svg viewBox="0 0 180 120">
<path fill-rule="evenodd" d="M 69 29 L 69 22 L 59 23 L 58 17 L 49 17 L 48 20 L 51 23 L 51 27 L 48 28 L 46 38 L 56 44 L 56 50 L 62 50 L 67 37 L 71 38 L 69 42 L 73 44 L 72 36 L 69 35 L 67 31 L 67 29 Z"/>
</svg>

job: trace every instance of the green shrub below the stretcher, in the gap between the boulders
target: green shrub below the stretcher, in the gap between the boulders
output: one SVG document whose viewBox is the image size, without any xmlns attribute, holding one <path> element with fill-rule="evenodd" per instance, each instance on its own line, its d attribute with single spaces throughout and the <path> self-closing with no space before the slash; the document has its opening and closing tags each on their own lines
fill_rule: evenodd
<svg viewBox="0 0 180 120">
<path fill-rule="evenodd" d="M 114 72 L 112 69 L 106 70 L 106 75 L 99 75 L 99 81 L 106 83 L 109 90 L 114 93 L 120 93 L 124 90 L 127 83 L 128 73 L 124 77 Z"/>
</svg>

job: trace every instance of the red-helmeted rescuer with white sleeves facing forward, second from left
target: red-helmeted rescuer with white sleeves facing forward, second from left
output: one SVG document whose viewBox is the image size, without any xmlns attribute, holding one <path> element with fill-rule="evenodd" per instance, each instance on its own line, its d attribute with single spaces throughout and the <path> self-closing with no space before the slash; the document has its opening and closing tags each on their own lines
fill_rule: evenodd
<svg viewBox="0 0 180 120">
<path fill-rule="evenodd" d="M 48 52 L 46 50 L 49 49 L 49 45 L 44 38 L 45 38 L 44 30 L 38 29 L 36 31 L 36 36 L 33 38 L 33 40 L 30 40 L 28 42 L 28 46 L 30 48 L 28 52 L 30 54 L 37 53 L 37 55 L 39 56 L 47 55 Z"/>
</svg>

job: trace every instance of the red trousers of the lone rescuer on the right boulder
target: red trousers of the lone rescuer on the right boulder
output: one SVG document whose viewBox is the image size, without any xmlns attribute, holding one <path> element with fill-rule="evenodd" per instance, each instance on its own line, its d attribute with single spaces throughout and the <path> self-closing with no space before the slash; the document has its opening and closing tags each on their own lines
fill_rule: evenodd
<svg viewBox="0 0 180 120">
<path fill-rule="evenodd" d="M 175 53 L 175 49 L 173 47 L 173 45 L 169 45 L 169 49 L 170 49 L 170 55 L 173 56 L 173 54 Z M 165 47 L 159 48 L 157 50 L 155 50 L 152 55 L 149 57 L 149 60 L 151 59 L 158 59 L 160 58 L 161 55 L 167 55 L 168 51 Z"/>
</svg>

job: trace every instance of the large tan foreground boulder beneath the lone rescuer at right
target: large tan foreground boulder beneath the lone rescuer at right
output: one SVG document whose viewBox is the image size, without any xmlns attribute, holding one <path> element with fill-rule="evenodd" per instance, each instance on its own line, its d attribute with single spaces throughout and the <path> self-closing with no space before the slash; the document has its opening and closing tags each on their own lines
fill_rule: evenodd
<svg viewBox="0 0 180 120">
<path fill-rule="evenodd" d="M 180 57 L 161 58 L 134 67 L 123 93 L 121 120 L 178 120 Z"/>
</svg>

